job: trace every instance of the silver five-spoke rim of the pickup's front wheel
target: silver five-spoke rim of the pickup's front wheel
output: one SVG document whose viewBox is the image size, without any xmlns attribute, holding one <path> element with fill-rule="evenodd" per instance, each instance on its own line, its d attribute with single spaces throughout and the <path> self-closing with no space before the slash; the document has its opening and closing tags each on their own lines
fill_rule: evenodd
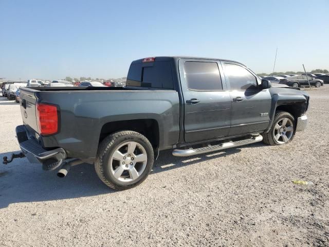
<svg viewBox="0 0 329 247">
<path fill-rule="evenodd" d="M 276 122 L 273 129 L 273 138 L 279 144 L 289 142 L 294 134 L 294 123 L 289 118 L 284 117 Z"/>
</svg>

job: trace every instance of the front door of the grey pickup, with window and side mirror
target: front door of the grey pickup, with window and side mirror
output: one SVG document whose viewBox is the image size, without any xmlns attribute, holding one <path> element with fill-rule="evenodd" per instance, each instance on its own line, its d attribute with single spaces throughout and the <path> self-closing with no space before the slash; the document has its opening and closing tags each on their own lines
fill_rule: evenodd
<svg viewBox="0 0 329 247">
<path fill-rule="evenodd" d="M 268 89 L 262 90 L 257 77 L 245 66 L 231 61 L 222 61 L 222 64 L 232 102 L 229 135 L 264 131 L 271 110 Z"/>
</svg>

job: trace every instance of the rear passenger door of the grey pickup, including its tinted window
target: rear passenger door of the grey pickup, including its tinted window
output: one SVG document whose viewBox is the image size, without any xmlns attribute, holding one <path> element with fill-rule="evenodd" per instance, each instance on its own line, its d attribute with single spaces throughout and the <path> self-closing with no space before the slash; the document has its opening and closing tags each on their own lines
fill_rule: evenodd
<svg viewBox="0 0 329 247">
<path fill-rule="evenodd" d="M 221 63 L 217 60 L 180 59 L 186 142 L 227 136 L 231 99 Z"/>
</svg>

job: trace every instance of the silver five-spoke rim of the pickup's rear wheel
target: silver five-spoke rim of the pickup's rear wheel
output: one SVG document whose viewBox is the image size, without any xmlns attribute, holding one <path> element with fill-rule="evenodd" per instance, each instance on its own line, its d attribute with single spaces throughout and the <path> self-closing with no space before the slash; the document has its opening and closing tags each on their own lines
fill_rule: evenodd
<svg viewBox="0 0 329 247">
<path fill-rule="evenodd" d="M 148 155 L 137 142 L 125 142 L 113 152 L 109 168 L 113 177 L 121 183 L 137 180 L 146 168 Z"/>
</svg>

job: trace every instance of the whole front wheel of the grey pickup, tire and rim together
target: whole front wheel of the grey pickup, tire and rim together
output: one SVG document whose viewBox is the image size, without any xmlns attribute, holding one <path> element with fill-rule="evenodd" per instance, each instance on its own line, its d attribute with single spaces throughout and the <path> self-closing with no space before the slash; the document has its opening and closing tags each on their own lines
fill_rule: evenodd
<svg viewBox="0 0 329 247">
<path fill-rule="evenodd" d="M 263 142 L 268 145 L 289 143 L 295 135 L 295 118 L 288 112 L 277 111 L 268 133 L 263 133 Z"/>
</svg>

